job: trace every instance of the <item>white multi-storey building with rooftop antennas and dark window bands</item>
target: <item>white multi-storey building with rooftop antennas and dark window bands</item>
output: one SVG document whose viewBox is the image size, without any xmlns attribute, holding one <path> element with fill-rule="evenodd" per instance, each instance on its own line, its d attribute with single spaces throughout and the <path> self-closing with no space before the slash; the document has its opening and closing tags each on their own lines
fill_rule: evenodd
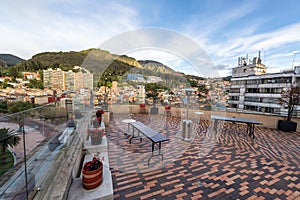
<svg viewBox="0 0 300 200">
<path fill-rule="evenodd" d="M 249 61 L 238 59 L 238 67 L 232 69 L 231 86 L 228 94 L 228 111 L 287 115 L 287 108 L 280 103 L 284 88 L 300 84 L 300 66 L 280 73 L 266 73 L 266 66 L 258 58 Z M 300 116 L 300 106 L 294 115 Z"/>
</svg>

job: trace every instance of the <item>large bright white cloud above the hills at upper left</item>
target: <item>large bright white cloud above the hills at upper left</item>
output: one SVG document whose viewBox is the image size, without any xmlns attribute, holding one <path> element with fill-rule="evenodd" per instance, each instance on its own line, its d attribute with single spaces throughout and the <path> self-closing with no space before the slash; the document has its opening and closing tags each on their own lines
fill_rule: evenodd
<svg viewBox="0 0 300 200">
<path fill-rule="evenodd" d="M 82 50 L 139 24 L 134 10 L 117 3 L 98 3 L 93 12 L 75 6 L 59 10 L 53 4 L 8 1 L 1 5 L 0 13 L 6 16 L 0 22 L 1 51 L 30 58 L 42 51 Z"/>
</svg>

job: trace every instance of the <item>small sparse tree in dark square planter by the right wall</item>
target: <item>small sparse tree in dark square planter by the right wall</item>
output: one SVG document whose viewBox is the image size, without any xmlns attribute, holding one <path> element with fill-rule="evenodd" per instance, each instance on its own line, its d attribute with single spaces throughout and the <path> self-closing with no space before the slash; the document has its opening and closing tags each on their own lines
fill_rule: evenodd
<svg viewBox="0 0 300 200">
<path fill-rule="evenodd" d="M 300 87 L 293 86 L 283 89 L 280 101 L 288 111 L 286 120 L 278 120 L 277 128 L 287 132 L 296 131 L 297 123 L 292 121 L 292 116 L 295 106 L 300 103 Z"/>
</svg>

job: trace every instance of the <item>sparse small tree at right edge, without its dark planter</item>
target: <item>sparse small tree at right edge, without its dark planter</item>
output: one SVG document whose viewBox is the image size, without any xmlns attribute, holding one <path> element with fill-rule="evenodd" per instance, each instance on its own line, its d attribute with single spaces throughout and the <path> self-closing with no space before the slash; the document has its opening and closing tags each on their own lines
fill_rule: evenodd
<svg viewBox="0 0 300 200">
<path fill-rule="evenodd" d="M 300 104 L 300 87 L 284 88 L 280 100 L 288 108 L 287 121 L 291 121 L 295 106 Z"/>
</svg>

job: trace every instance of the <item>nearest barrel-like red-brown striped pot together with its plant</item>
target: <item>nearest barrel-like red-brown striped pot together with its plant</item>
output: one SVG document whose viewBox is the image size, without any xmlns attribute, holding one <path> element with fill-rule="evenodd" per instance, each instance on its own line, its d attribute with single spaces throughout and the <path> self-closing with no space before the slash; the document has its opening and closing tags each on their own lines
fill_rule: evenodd
<svg viewBox="0 0 300 200">
<path fill-rule="evenodd" d="M 103 181 L 103 163 L 98 158 L 86 162 L 82 169 L 82 186 L 87 190 L 95 189 Z"/>
</svg>

